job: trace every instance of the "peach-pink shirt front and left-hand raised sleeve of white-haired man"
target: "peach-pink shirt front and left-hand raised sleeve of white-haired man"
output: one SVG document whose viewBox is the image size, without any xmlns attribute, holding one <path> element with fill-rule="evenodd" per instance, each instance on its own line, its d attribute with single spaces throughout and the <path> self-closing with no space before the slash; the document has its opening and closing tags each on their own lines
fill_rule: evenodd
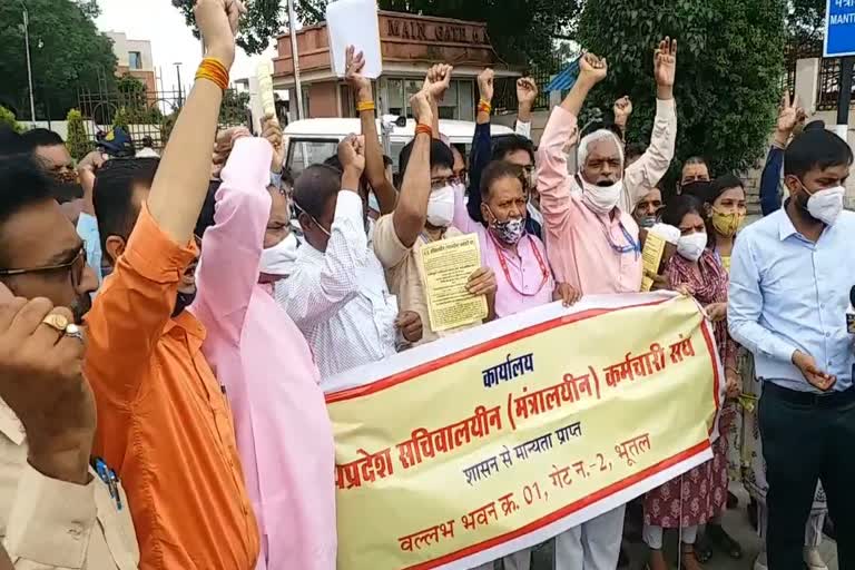
<svg viewBox="0 0 855 570">
<path fill-rule="evenodd" d="M 538 191 L 549 262 L 559 283 L 584 295 L 638 293 L 641 255 L 619 253 L 615 246 L 638 244 L 638 225 L 620 208 L 597 214 L 582 200 L 582 190 L 567 171 L 563 148 L 576 128 L 576 117 L 556 107 L 538 148 Z"/>
</svg>

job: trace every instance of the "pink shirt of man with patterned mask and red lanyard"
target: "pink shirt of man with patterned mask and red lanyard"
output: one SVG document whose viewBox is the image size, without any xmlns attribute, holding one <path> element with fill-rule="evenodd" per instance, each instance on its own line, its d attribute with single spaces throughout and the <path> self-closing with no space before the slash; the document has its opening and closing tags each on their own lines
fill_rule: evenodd
<svg viewBox="0 0 855 570">
<path fill-rule="evenodd" d="M 478 234 L 481 264 L 495 273 L 495 316 L 501 318 L 551 303 L 556 284 L 549 268 L 547 250 L 540 238 L 533 235 L 524 236 L 517 245 L 515 253 L 501 247 L 483 224 L 469 217 L 463 193 L 462 186 L 454 189 L 454 227 L 464 234 Z M 502 258 L 507 273 L 502 267 Z"/>
</svg>

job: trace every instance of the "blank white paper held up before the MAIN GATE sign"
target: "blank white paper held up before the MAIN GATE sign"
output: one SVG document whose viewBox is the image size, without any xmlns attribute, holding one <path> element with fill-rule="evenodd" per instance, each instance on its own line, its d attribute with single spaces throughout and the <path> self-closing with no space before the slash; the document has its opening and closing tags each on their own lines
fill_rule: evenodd
<svg viewBox="0 0 855 570">
<path fill-rule="evenodd" d="M 333 70 L 344 77 L 345 50 L 353 46 L 365 56 L 362 75 L 376 79 L 383 72 L 380 51 L 380 24 L 376 0 L 338 0 L 326 7 L 326 29 L 330 33 L 330 56 Z"/>
</svg>

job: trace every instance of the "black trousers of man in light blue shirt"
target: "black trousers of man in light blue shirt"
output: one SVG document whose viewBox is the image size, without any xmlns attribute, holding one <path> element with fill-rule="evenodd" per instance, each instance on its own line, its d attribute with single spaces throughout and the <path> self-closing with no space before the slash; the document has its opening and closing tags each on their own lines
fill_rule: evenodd
<svg viewBox="0 0 855 570">
<path fill-rule="evenodd" d="M 813 395 L 763 386 L 760 439 L 769 491 L 769 570 L 803 570 L 805 523 L 820 480 L 838 529 L 841 570 L 855 570 L 855 387 Z"/>
</svg>

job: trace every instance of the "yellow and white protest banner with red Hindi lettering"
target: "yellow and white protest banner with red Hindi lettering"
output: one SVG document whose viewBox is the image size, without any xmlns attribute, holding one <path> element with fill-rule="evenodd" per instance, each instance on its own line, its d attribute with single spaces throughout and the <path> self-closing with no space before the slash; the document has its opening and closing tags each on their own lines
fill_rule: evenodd
<svg viewBox="0 0 855 570">
<path fill-rule="evenodd" d="M 331 379 L 340 570 L 463 569 L 711 458 L 711 327 L 670 294 L 507 317 Z"/>
</svg>

